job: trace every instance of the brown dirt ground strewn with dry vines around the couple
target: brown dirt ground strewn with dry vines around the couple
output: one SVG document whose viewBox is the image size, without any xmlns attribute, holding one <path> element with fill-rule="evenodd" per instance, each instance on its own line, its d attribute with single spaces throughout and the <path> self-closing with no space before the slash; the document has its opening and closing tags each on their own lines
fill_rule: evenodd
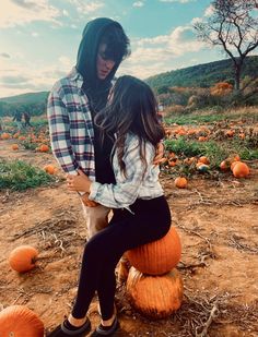
<svg viewBox="0 0 258 337">
<path fill-rule="evenodd" d="M 44 167 L 51 154 L 10 151 L 1 141 L 0 157 L 20 158 Z M 162 184 L 181 239 L 178 265 L 184 279 L 181 308 L 165 320 L 143 317 L 130 305 L 124 284 L 116 304 L 121 323 L 117 336 L 258 336 L 258 170 L 248 179 L 230 173 L 218 179 L 199 174 L 186 190 L 162 174 Z M 57 177 L 61 178 L 60 170 Z M 68 314 L 75 296 L 85 219 L 77 194 L 59 179 L 51 188 L 0 191 L 0 304 L 25 304 L 44 322 L 46 332 Z M 40 260 L 19 275 L 8 264 L 20 244 L 35 245 Z M 90 309 L 98 323 L 96 299 Z"/>
</svg>

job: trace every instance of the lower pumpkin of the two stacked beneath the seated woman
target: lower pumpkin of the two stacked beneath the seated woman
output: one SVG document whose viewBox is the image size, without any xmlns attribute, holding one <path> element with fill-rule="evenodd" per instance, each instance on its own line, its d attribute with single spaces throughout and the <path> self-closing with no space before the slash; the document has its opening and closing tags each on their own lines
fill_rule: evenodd
<svg viewBox="0 0 258 337">
<path fill-rule="evenodd" d="M 165 318 L 179 309 L 183 288 L 180 274 L 175 268 L 162 276 L 150 276 L 131 267 L 127 279 L 131 304 L 151 318 Z"/>
</svg>

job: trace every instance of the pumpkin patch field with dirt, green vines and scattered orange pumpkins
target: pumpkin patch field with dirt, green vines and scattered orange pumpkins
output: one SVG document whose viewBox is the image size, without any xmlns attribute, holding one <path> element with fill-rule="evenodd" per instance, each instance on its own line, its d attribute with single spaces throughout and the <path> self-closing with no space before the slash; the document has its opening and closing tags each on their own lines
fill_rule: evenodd
<svg viewBox="0 0 258 337">
<path fill-rule="evenodd" d="M 138 266 L 128 281 L 117 267 L 116 336 L 258 336 L 257 118 L 166 121 L 164 128 L 161 183 L 173 216 L 172 239 L 160 243 L 159 268 L 143 266 L 136 252 L 128 252 Z M 47 336 L 69 314 L 77 293 L 86 225 L 46 129 L 19 134 L 7 127 L 0 134 L 0 180 L 7 179 L 0 185 L 1 337 Z M 20 170 L 12 188 L 7 163 L 17 160 L 35 171 Z M 30 185 L 22 183 L 25 172 Z M 148 263 L 154 261 L 145 254 Z M 96 298 L 89 316 L 95 328 Z M 17 326 L 14 335 L 7 333 L 10 322 Z"/>
</svg>

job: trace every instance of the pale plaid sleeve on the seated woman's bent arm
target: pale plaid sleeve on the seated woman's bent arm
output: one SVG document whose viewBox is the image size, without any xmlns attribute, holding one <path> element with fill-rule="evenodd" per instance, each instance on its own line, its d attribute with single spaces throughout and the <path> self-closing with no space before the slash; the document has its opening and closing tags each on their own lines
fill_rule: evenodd
<svg viewBox="0 0 258 337">
<path fill-rule="evenodd" d="M 152 165 L 154 158 L 154 147 L 145 144 L 146 166 Z M 128 208 L 138 197 L 141 188 L 145 166 L 140 158 L 140 147 L 137 141 L 129 144 L 124 161 L 126 165 L 126 177 L 119 174 L 116 184 L 101 184 L 93 182 L 91 184 L 90 200 L 112 208 Z"/>
</svg>

